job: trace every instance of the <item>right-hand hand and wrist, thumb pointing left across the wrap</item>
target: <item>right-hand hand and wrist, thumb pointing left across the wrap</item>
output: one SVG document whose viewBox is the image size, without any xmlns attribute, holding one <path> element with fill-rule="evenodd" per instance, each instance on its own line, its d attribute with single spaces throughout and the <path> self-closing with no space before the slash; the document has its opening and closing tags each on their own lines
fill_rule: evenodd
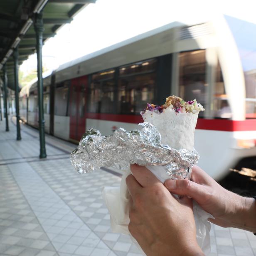
<svg viewBox="0 0 256 256">
<path fill-rule="evenodd" d="M 193 167 L 191 180 L 166 180 L 165 187 L 174 194 L 192 197 L 214 216 L 209 219 L 214 224 L 256 231 L 255 200 L 224 189 L 198 166 Z"/>
</svg>

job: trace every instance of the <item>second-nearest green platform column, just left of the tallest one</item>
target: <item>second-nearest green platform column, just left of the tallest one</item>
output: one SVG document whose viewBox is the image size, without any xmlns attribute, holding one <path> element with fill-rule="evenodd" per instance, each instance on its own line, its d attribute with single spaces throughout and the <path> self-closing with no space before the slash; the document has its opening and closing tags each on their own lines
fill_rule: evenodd
<svg viewBox="0 0 256 256">
<path fill-rule="evenodd" d="M 14 59 L 14 81 L 15 81 L 15 108 L 16 108 L 16 123 L 17 123 L 17 140 L 21 140 L 20 136 L 20 106 L 19 106 L 19 74 L 18 74 L 18 47 L 13 50 Z"/>
</svg>

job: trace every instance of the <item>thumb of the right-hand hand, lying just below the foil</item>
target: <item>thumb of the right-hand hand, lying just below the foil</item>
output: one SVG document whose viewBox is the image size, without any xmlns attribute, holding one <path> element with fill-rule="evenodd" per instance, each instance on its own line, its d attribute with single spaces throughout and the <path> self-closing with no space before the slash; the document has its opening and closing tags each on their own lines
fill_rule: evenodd
<svg viewBox="0 0 256 256">
<path fill-rule="evenodd" d="M 197 203 L 203 203 L 207 197 L 207 189 L 191 180 L 166 180 L 164 183 L 167 190 L 173 194 L 192 197 Z"/>
</svg>

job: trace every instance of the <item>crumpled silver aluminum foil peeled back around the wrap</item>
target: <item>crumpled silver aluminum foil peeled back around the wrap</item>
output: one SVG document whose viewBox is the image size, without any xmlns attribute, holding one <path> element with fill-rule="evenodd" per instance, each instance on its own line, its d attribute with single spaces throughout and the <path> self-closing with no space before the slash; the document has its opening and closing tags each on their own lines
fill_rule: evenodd
<svg viewBox="0 0 256 256">
<path fill-rule="evenodd" d="M 119 128 L 109 136 L 91 128 L 82 136 L 78 148 L 70 156 L 71 164 L 80 173 L 100 167 L 127 170 L 130 164 L 164 166 L 171 179 L 190 178 L 190 169 L 199 159 L 192 152 L 176 150 L 161 144 L 161 135 L 151 123 L 140 123 L 140 130 L 127 132 Z"/>
</svg>

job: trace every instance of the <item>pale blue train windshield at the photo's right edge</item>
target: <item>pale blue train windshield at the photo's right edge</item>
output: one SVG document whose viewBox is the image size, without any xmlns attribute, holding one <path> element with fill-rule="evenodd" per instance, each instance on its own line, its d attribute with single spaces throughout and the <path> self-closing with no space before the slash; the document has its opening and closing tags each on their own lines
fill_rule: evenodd
<svg viewBox="0 0 256 256">
<path fill-rule="evenodd" d="M 225 15 L 239 50 L 246 85 L 246 118 L 256 118 L 256 24 Z"/>
</svg>

